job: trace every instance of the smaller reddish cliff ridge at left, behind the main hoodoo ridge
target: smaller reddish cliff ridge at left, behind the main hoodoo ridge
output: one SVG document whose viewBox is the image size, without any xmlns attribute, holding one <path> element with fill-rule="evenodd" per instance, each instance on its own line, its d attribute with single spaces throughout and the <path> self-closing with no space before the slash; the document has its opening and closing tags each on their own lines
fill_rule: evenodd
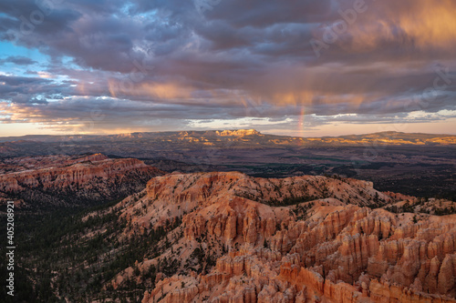
<svg viewBox="0 0 456 303">
<path fill-rule="evenodd" d="M 150 177 L 162 174 L 138 159 L 110 159 L 101 154 L 22 157 L 4 164 L 0 192 L 21 197 L 29 205 L 127 196 L 141 190 Z"/>
</svg>

